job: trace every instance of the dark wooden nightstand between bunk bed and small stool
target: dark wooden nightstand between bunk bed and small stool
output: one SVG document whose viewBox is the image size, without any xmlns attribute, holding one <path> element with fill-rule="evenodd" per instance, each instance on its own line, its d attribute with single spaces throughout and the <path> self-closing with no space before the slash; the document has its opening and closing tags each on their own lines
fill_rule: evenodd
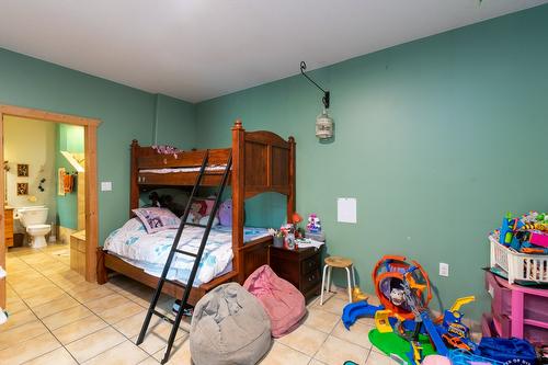
<svg viewBox="0 0 548 365">
<path fill-rule="evenodd" d="M 271 246 L 269 262 L 279 277 L 295 285 L 309 299 L 320 295 L 322 250 L 323 246 L 319 250 L 286 250 Z"/>
</svg>

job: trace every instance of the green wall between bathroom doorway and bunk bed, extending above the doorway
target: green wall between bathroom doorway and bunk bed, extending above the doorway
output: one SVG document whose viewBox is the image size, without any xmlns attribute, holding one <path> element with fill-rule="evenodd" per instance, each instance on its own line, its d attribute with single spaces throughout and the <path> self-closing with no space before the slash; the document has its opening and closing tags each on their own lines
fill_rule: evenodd
<svg viewBox="0 0 548 365">
<path fill-rule="evenodd" d="M 185 126 L 194 128 L 192 113 L 185 112 L 193 109 L 190 103 L 1 48 L 0 103 L 102 121 L 98 129 L 96 183 L 112 181 L 113 191 L 99 192 L 100 244 L 128 217 L 132 139 L 150 145 L 156 129 L 158 144 L 172 142 L 174 139 L 170 137 L 170 130 L 184 130 Z"/>
</svg>

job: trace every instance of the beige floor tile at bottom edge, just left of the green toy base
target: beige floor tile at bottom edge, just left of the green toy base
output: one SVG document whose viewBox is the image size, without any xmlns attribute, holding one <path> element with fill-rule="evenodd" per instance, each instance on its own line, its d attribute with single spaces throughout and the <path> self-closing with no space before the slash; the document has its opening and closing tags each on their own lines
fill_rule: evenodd
<svg viewBox="0 0 548 365">
<path fill-rule="evenodd" d="M 328 365 L 341 365 L 347 360 L 363 364 L 368 352 L 369 350 L 330 335 L 313 357 Z"/>
</svg>

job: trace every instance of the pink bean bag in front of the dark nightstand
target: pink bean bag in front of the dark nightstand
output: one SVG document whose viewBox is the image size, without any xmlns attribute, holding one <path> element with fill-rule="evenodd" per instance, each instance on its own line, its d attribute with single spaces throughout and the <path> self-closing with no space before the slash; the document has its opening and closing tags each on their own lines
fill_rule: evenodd
<svg viewBox="0 0 548 365">
<path fill-rule="evenodd" d="M 296 329 L 307 312 L 302 294 L 277 276 L 269 265 L 255 270 L 243 283 L 243 287 L 263 305 L 271 319 L 274 338 L 281 338 Z"/>
</svg>

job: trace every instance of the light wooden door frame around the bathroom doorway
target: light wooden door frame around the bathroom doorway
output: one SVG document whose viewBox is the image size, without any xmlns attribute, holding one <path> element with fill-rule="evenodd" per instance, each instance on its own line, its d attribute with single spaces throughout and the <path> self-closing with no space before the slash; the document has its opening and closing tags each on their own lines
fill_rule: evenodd
<svg viewBox="0 0 548 365">
<path fill-rule="evenodd" d="M 31 119 L 41 119 L 53 123 L 65 123 L 83 126 L 85 153 L 85 280 L 96 280 L 96 247 L 99 238 L 98 224 L 98 161 L 96 161 L 96 129 L 100 119 L 88 118 L 69 114 L 52 113 L 35 109 L 0 104 L 0 161 L 3 161 L 3 117 L 4 115 Z M 0 179 L 0 202 L 5 201 L 4 179 Z M 3 207 L 0 210 L 0 266 L 5 269 L 5 237 Z M 8 273 L 9 274 L 9 273 Z M 0 280 L 0 307 L 5 308 L 5 278 Z"/>
</svg>

